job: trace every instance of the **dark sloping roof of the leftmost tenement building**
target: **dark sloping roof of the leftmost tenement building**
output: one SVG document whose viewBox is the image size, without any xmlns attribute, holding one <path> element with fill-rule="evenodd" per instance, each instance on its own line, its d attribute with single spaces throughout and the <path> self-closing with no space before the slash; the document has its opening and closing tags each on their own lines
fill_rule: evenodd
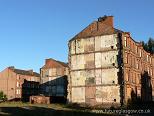
<svg viewBox="0 0 154 116">
<path fill-rule="evenodd" d="M 9 67 L 9 69 L 11 69 L 11 70 L 12 70 L 13 72 L 15 72 L 16 74 L 40 77 L 40 74 L 39 74 L 39 73 L 32 72 L 32 70 L 31 70 L 31 71 L 28 71 L 28 70 L 21 70 L 21 69 L 15 69 L 14 67 Z"/>
</svg>

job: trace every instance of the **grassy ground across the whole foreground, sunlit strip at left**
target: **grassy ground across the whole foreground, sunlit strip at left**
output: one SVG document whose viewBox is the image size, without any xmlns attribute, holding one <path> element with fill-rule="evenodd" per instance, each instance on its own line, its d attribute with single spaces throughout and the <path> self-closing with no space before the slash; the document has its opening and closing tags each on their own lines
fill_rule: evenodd
<svg viewBox="0 0 154 116">
<path fill-rule="evenodd" d="M 132 105 L 130 108 L 121 107 L 115 110 L 150 109 L 151 113 L 135 114 L 136 116 L 154 115 L 154 104 Z M 67 104 L 30 104 L 22 102 L 0 103 L 0 116 L 113 116 L 117 113 L 92 113 L 92 108 L 79 107 Z M 103 109 L 102 109 L 103 110 Z M 114 110 L 114 109 L 113 109 Z M 101 110 L 97 110 L 101 111 Z M 126 114 L 123 114 L 126 115 Z M 133 114 L 134 115 L 134 114 Z"/>
</svg>

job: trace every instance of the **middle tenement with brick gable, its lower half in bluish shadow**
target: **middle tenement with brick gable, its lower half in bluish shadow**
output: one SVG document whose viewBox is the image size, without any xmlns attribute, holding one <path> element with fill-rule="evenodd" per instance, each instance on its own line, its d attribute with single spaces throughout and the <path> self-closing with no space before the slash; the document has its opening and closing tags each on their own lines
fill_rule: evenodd
<svg viewBox="0 0 154 116">
<path fill-rule="evenodd" d="M 41 93 L 52 101 L 65 101 L 67 98 L 68 65 L 54 59 L 46 59 L 40 69 Z"/>
</svg>

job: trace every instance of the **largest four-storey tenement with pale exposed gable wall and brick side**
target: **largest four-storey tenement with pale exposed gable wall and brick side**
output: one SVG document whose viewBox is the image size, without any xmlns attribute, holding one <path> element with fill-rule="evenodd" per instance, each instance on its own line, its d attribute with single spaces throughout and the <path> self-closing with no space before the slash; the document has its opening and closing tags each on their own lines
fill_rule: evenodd
<svg viewBox="0 0 154 116">
<path fill-rule="evenodd" d="M 113 17 L 100 17 L 69 41 L 70 103 L 123 104 L 153 90 L 153 56 L 129 33 L 115 29 Z M 141 82 L 142 77 L 145 83 Z M 144 80 L 144 79 L 143 79 Z M 144 95 L 143 95 L 144 94 Z"/>
</svg>

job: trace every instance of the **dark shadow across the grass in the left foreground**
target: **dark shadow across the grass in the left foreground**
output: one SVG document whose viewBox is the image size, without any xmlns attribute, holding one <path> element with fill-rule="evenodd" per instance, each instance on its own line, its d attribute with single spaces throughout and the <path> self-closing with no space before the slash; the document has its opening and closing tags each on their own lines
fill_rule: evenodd
<svg viewBox="0 0 154 116">
<path fill-rule="evenodd" d="M 54 110 L 52 108 L 28 106 L 0 107 L 0 116 L 106 116 L 106 114 L 94 114 L 72 110 Z"/>
</svg>

